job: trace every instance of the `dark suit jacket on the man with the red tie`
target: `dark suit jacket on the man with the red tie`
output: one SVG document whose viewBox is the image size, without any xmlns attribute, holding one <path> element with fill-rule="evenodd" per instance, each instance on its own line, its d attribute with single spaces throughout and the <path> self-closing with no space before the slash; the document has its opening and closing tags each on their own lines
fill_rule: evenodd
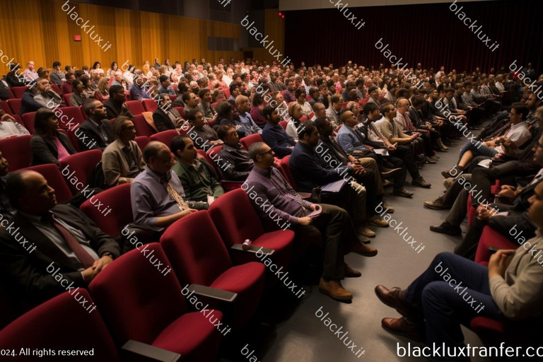
<svg viewBox="0 0 543 362">
<path fill-rule="evenodd" d="M 103 233 L 83 212 L 63 204 L 54 206 L 51 211 L 55 217 L 81 230 L 98 256 L 101 257 L 106 252 L 114 257 L 120 255 L 119 244 Z M 28 243 L 25 243 L 25 240 L 28 240 Z M 36 248 L 30 252 L 32 249 L 29 248 L 33 244 Z M 52 267 L 49 267 L 51 264 L 53 271 Z M 62 286 L 52 276 L 57 268 L 60 268 L 59 274 L 68 281 L 68 285 L 73 281 L 74 288 L 84 286 L 83 276 L 79 271 L 82 267 L 81 263 L 66 257 L 59 247 L 19 213 L 16 213 L 4 228 L 0 228 L 0 268 L 25 300 L 40 303 L 66 291 L 66 285 Z"/>
</svg>

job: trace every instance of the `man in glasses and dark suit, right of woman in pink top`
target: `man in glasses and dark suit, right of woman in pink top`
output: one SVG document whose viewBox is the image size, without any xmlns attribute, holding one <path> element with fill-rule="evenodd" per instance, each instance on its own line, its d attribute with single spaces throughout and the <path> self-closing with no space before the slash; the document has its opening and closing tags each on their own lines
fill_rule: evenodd
<svg viewBox="0 0 543 362">
<path fill-rule="evenodd" d="M 79 126 L 77 131 L 82 151 L 104 149 L 115 140 L 113 127 L 107 119 L 105 107 L 100 100 L 89 100 L 83 105 L 88 119 Z"/>
</svg>

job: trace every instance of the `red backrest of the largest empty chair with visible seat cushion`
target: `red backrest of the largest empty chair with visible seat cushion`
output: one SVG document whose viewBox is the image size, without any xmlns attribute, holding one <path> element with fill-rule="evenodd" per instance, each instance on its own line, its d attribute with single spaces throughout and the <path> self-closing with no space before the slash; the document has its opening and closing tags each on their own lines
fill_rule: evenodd
<svg viewBox="0 0 543 362">
<path fill-rule="evenodd" d="M 154 263 L 165 267 L 157 269 Z M 91 294 L 117 344 L 129 339 L 152 344 L 187 310 L 181 286 L 158 243 L 132 250 L 93 279 Z M 140 317 L 137 317 L 140 316 Z M 182 339 L 180 339 L 182 343 Z"/>
</svg>

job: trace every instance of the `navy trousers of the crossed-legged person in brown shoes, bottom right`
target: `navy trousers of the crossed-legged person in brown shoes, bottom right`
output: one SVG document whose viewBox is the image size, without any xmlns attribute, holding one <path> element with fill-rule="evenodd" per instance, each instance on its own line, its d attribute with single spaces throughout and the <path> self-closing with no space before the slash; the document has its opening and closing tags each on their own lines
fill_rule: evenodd
<svg viewBox="0 0 543 362">
<path fill-rule="evenodd" d="M 407 288 L 406 300 L 424 314 L 428 346 L 443 342 L 449 347 L 464 346 L 460 324 L 469 325 L 469 320 L 477 316 L 501 319 L 490 293 L 489 269 L 450 252 L 434 257 L 428 269 Z"/>
</svg>

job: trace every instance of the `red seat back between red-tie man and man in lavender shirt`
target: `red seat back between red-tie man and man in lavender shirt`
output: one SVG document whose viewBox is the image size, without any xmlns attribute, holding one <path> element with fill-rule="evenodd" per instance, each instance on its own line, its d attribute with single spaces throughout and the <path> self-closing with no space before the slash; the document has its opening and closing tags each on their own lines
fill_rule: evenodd
<svg viewBox="0 0 543 362">
<path fill-rule="evenodd" d="M 98 209 L 98 202 L 102 203 Z M 88 199 L 80 207 L 81 211 L 104 233 L 112 238 L 119 235 L 127 223 L 134 222 L 132 203 L 130 202 L 130 184 L 122 184 L 95 194 L 93 200 Z M 111 210 L 105 213 L 104 210 Z"/>
</svg>

